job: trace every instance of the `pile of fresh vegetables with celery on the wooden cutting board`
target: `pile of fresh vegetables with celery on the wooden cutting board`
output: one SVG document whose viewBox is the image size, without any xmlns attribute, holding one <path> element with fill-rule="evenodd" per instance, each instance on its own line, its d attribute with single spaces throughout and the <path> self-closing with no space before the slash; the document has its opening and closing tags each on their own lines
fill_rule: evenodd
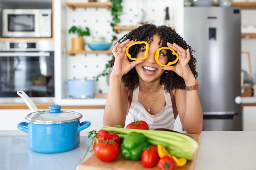
<svg viewBox="0 0 256 170">
<path fill-rule="evenodd" d="M 177 132 L 138 129 L 144 122 L 132 123 L 132 128 L 103 126 L 98 132 L 91 131 L 89 137 L 94 139 L 95 156 L 111 162 L 121 153 L 125 159 L 140 160 L 142 166 L 157 166 L 159 170 L 175 170 L 195 157 L 199 145 L 192 137 Z"/>
</svg>

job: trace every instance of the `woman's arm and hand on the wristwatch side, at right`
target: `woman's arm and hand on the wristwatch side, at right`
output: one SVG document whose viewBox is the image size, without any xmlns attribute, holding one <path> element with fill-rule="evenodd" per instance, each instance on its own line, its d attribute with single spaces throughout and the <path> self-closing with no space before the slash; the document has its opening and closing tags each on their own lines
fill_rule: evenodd
<svg viewBox="0 0 256 170">
<path fill-rule="evenodd" d="M 177 51 L 180 57 L 179 62 L 175 66 L 168 66 L 163 69 L 175 71 L 177 75 L 184 79 L 186 86 L 195 85 L 195 77 L 188 64 L 191 59 L 189 49 L 185 50 L 177 44 L 167 43 L 167 45 Z M 198 91 L 176 89 L 174 95 L 177 111 L 184 130 L 188 133 L 200 134 L 202 132 L 203 114 Z"/>
</svg>

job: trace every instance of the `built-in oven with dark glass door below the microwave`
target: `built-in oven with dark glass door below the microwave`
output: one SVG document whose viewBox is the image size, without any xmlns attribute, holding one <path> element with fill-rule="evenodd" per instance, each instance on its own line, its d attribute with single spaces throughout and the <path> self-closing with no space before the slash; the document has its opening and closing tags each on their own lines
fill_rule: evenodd
<svg viewBox="0 0 256 170">
<path fill-rule="evenodd" d="M 54 41 L 4 41 L 0 51 L 0 99 L 54 97 Z"/>
</svg>

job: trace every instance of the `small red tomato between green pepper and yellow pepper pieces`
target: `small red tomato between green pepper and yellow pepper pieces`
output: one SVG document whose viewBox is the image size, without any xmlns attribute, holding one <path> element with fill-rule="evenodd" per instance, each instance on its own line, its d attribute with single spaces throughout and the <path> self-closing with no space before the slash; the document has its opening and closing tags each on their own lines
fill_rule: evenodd
<svg viewBox="0 0 256 170">
<path fill-rule="evenodd" d="M 158 155 L 154 150 L 145 149 L 141 155 L 141 164 L 145 168 L 153 168 L 157 165 Z"/>
</svg>

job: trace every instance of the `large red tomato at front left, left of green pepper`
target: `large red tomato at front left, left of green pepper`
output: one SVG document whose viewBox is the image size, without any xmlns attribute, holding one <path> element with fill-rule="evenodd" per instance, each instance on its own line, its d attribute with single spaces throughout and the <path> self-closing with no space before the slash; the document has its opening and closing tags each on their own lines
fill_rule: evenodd
<svg viewBox="0 0 256 170">
<path fill-rule="evenodd" d="M 99 160 L 111 162 L 117 159 L 120 152 L 120 146 L 115 141 L 99 141 L 99 143 L 95 144 L 93 150 L 95 156 Z"/>
</svg>

